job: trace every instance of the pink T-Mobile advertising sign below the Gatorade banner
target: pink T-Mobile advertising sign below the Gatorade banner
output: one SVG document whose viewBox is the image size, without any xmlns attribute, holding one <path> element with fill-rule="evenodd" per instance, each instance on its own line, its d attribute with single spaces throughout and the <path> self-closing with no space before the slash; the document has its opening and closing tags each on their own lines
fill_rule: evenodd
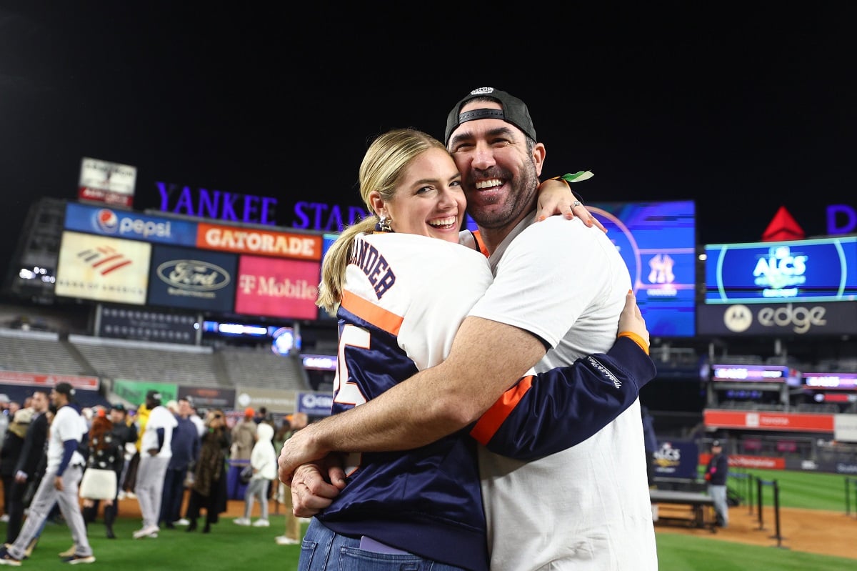
<svg viewBox="0 0 857 571">
<path fill-rule="evenodd" d="M 235 311 L 247 316 L 315 319 L 319 262 L 242 255 Z"/>
</svg>

